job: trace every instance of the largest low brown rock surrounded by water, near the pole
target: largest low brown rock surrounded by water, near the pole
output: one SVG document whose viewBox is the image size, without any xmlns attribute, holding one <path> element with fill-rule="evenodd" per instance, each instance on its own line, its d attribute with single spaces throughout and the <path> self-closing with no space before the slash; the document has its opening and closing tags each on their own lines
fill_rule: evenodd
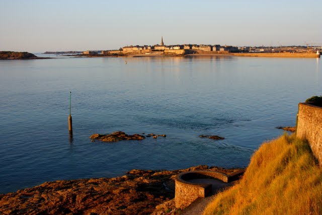
<svg viewBox="0 0 322 215">
<path fill-rule="evenodd" d="M 95 133 L 92 136 L 90 136 L 92 141 L 94 139 L 98 139 L 104 142 L 117 142 L 121 140 L 142 140 L 145 139 L 145 136 L 140 135 L 140 134 L 133 134 L 133 135 L 128 135 L 124 133 L 123 131 L 115 131 L 111 134 L 99 134 Z"/>
</svg>

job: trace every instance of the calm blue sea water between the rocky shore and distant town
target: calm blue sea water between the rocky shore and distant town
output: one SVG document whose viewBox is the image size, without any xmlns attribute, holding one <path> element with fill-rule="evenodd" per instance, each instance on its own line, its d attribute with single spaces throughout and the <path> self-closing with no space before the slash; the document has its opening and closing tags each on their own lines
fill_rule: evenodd
<svg viewBox="0 0 322 215">
<path fill-rule="evenodd" d="M 2 60 L 0 193 L 131 169 L 246 167 L 283 133 L 276 126 L 295 125 L 299 102 L 322 94 L 321 67 L 315 58 Z M 89 139 L 117 130 L 167 137 Z"/>
</svg>

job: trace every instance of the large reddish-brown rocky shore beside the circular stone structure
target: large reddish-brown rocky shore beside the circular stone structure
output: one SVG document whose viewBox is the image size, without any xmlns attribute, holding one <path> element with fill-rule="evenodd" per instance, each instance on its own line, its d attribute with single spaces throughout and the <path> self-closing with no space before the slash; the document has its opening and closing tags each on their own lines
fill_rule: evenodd
<svg viewBox="0 0 322 215">
<path fill-rule="evenodd" d="M 184 170 L 131 170 L 117 178 L 61 180 L 0 195 L 0 214 L 165 214 L 175 210 L 176 174 L 207 170 L 201 165 Z M 211 167 L 231 174 L 240 169 Z M 165 203 L 168 202 L 169 203 Z M 164 203 L 155 209 L 158 204 Z"/>
</svg>

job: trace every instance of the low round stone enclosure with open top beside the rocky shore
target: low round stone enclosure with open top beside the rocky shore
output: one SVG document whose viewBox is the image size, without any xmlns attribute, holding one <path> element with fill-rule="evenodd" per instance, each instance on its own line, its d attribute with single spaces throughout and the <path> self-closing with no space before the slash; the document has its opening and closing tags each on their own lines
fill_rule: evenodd
<svg viewBox="0 0 322 215">
<path fill-rule="evenodd" d="M 175 204 L 177 208 L 185 208 L 199 197 L 217 193 L 224 187 L 231 186 L 244 171 L 232 175 L 216 171 L 190 171 L 176 176 Z"/>
</svg>

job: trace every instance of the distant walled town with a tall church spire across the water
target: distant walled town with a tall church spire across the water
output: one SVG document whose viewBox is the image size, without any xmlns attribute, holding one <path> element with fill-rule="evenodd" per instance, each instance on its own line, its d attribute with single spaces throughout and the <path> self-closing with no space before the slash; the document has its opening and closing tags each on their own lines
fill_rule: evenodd
<svg viewBox="0 0 322 215">
<path fill-rule="evenodd" d="M 44 54 L 81 54 L 87 56 L 127 56 L 127 55 L 187 55 L 187 54 L 225 54 L 225 53 L 295 53 L 319 56 L 322 46 L 305 44 L 303 46 L 231 46 L 231 45 L 206 45 L 206 44 L 177 44 L 165 45 L 163 37 L 160 44 L 155 45 L 130 45 L 118 50 L 87 50 L 66 52 L 45 52 Z"/>
</svg>

